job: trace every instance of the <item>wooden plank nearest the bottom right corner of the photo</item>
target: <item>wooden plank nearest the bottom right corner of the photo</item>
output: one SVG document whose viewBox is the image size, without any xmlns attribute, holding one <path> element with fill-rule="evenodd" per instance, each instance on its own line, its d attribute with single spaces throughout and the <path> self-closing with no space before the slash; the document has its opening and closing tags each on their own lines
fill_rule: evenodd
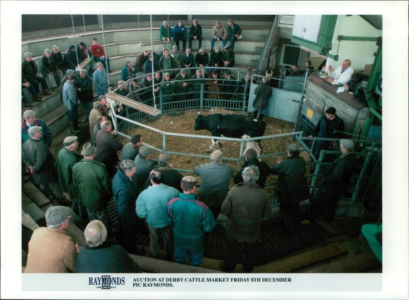
<svg viewBox="0 0 409 300">
<path fill-rule="evenodd" d="M 360 273 L 378 266 L 380 262 L 376 256 L 372 252 L 365 252 L 311 269 L 306 273 Z"/>
</svg>

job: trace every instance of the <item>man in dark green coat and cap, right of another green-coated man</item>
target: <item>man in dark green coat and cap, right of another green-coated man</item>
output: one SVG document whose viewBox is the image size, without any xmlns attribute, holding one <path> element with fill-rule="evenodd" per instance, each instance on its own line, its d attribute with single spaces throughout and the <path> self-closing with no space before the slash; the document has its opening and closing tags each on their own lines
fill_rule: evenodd
<svg viewBox="0 0 409 300">
<path fill-rule="evenodd" d="M 89 220 L 100 220 L 110 230 L 107 204 L 112 196 L 111 178 L 104 164 L 94 160 L 95 148 L 90 143 L 82 147 L 84 157 L 73 167 L 73 183 L 78 187 Z"/>
</svg>

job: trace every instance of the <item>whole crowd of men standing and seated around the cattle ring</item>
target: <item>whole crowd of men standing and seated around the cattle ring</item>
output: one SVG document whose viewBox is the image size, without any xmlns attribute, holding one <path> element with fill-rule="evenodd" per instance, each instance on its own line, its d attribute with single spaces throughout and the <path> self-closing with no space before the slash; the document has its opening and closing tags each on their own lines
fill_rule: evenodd
<svg viewBox="0 0 409 300">
<path fill-rule="evenodd" d="M 242 36 L 240 27 L 232 20 L 229 20 L 227 29 L 221 27 L 219 21 L 213 27 L 210 57 L 201 48 L 201 27 L 197 20 L 193 21 L 189 29 L 187 49 L 187 30 L 183 22 L 179 21 L 170 29 L 164 21 L 160 34 L 162 41 L 176 43 L 171 51 L 164 48 L 162 54 L 157 55 L 146 50 L 137 57 L 135 65 L 127 59 L 121 71 L 122 81 L 118 83 L 119 86 L 124 86 L 125 81 L 133 78 L 137 72 L 145 72 L 148 74 L 140 87 L 156 86 L 153 93 L 161 89 L 163 101 L 168 102 L 174 99 L 174 94 L 181 95 L 179 99 L 199 97 L 197 93 L 200 93 L 200 85 L 208 77 L 207 96 L 212 99 L 230 99 L 237 91 L 238 83 L 243 85 L 248 75 L 251 75 L 249 71 L 244 81 L 238 81 L 229 70 L 224 70 L 224 78 L 221 79 L 221 69 L 215 68 L 234 66 L 234 43 Z M 198 40 L 199 50 L 196 55 L 191 53 L 193 40 Z M 228 40 L 230 44 L 226 45 Z M 184 53 L 179 52 L 179 41 L 183 42 Z M 213 49 L 216 41 L 222 41 L 222 51 L 219 47 Z M 199 266 L 203 259 L 206 233 L 215 228 L 219 214 L 229 218 L 226 235 L 228 250 L 225 261 L 220 264 L 221 270 L 231 272 L 235 269 L 239 261 L 239 248 L 242 247 L 245 253 L 243 271 L 251 272 L 258 262 L 255 243 L 260 234 L 261 219 L 272 214 L 271 203 L 264 190 L 266 178 L 270 174 L 279 176 L 275 191 L 280 199 L 280 215 L 287 232 L 293 232 L 299 203 L 310 198 L 305 178 L 306 163 L 300 157 L 297 145 L 289 145 L 287 157 L 274 166 L 259 161 L 256 151 L 248 149 L 244 153 L 243 168 L 237 173 L 230 165 L 222 163 L 222 153 L 216 150 L 210 155 L 210 163 L 193 169 L 201 181 L 196 193 L 198 177 L 183 176 L 177 172 L 168 154 L 161 154 L 157 160 L 152 159 L 152 149 L 143 146 L 141 135 L 133 135 L 125 146 L 118 141 L 117 131 L 113 130 L 109 121 L 110 105 L 105 98 L 108 91 L 107 73 L 110 73 L 109 58 L 97 38 L 93 38 L 89 49 L 84 42 L 80 42 L 77 47 L 70 45 L 64 58 L 57 46 L 53 46 L 52 51 L 44 50 L 40 58 L 40 73 L 43 77 L 37 75 L 32 54 L 27 52 L 24 56 L 22 88 L 28 88 L 33 99 L 41 100 L 39 84 L 42 85 L 44 95 L 50 94 L 45 80 L 48 77 L 52 87 L 61 93 L 71 132 L 75 134 L 79 130 L 80 100 L 89 123 L 90 135 L 90 142 L 84 144 L 80 152 L 77 151 L 78 137 L 67 136 L 54 161 L 50 152 L 52 135 L 46 123 L 36 119 L 36 113 L 32 110 L 24 112 L 21 124 L 22 161 L 40 190 L 63 205 L 51 207 L 46 213 L 47 227 L 34 231 L 29 243 L 26 272 L 140 272 L 138 264 L 133 262 L 128 253 L 144 253 L 144 248 L 137 240 L 146 226 L 149 230 L 151 257 Z M 80 70 L 77 77 L 74 70 L 86 58 L 97 61 L 97 70 L 90 69 L 92 77 L 86 70 Z M 339 82 L 351 64 L 350 61 L 345 62 L 340 71 L 335 72 L 339 74 L 334 75 Z M 177 74 L 170 70 L 180 67 Z M 192 67 L 199 68 L 192 70 Z M 163 79 L 158 71 L 166 71 L 162 72 Z M 293 72 L 298 72 L 298 66 L 293 68 Z M 266 101 L 270 97 L 268 90 L 271 93 L 267 86 L 269 75 L 263 77 L 263 84 L 255 91 L 254 118 L 260 112 L 260 120 L 263 119 Z M 130 82 L 131 90 L 139 88 L 137 82 Z M 96 102 L 92 93 L 93 85 L 98 94 Z M 129 91 L 125 90 L 123 95 Z M 121 88 L 118 93 L 122 93 Z M 139 93 L 142 101 L 151 96 L 151 91 Z M 29 103 L 27 99 L 24 101 Z M 122 106 L 117 106 L 116 110 L 120 112 Z M 344 131 L 344 122 L 335 112 L 333 107 L 326 110 L 326 117 L 316 126 L 312 136 L 342 137 L 334 134 L 334 131 Z M 315 156 L 321 149 L 330 146 L 334 145 L 317 143 Z M 303 224 L 314 221 L 319 214 L 328 221 L 334 216 L 337 199 L 345 192 L 356 165 L 353 141 L 342 139 L 339 147 L 342 155 L 333 161 L 319 190 L 311 197 L 307 219 Z M 122 151 L 121 159 L 117 151 Z M 229 190 L 232 177 L 236 186 Z M 70 199 L 65 198 L 63 192 Z M 119 216 L 116 241 L 120 245 L 112 243 L 111 239 L 113 231 L 107 204 L 112 197 Z M 83 247 L 75 245 L 64 232 L 72 214 L 65 207 L 67 205 L 72 205 L 83 223 L 88 224 L 84 230 L 86 245 Z M 163 255 L 160 255 L 160 240 L 164 245 Z"/>
</svg>

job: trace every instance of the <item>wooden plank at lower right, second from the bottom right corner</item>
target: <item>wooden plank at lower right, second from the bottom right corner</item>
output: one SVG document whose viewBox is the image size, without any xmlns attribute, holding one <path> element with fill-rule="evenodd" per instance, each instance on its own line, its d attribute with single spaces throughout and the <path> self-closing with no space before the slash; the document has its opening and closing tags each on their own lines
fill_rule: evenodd
<svg viewBox="0 0 409 300">
<path fill-rule="evenodd" d="M 327 260 L 348 252 L 348 249 L 339 243 L 334 243 L 318 249 L 300 253 L 280 261 L 261 266 L 261 272 L 286 273 L 304 268 L 314 263 Z"/>
</svg>

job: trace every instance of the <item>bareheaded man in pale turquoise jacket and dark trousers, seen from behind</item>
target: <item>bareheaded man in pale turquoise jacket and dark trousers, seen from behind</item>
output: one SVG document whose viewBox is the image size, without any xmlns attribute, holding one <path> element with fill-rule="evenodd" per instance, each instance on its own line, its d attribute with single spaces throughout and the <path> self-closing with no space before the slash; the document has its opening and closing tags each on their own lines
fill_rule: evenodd
<svg viewBox="0 0 409 300">
<path fill-rule="evenodd" d="M 172 226 L 167 212 L 168 201 L 177 197 L 179 192 L 164 184 L 164 177 L 158 169 L 149 174 L 151 186 L 139 194 L 136 202 L 138 217 L 146 218 L 149 226 L 150 254 L 159 258 L 159 240 L 164 242 L 164 258 L 172 259 Z"/>
</svg>

